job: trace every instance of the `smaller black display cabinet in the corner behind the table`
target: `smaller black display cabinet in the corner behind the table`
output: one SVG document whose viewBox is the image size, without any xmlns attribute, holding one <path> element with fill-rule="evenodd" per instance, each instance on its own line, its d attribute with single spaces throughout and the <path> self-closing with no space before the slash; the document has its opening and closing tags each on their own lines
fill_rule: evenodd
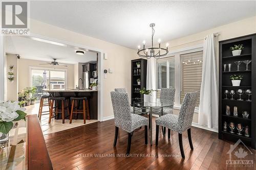
<svg viewBox="0 0 256 170">
<path fill-rule="evenodd" d="M 140 63 L 140 67 L 137 67 L 136 63 Z M 146 67 L 147 60 L 145 59 L 136 59 L 132 60 L 132 84 L 131 84 L 131 98 L 143 98 L 143 95 L 140 94 L 139 90 L 146 88 Z M 137 80 L 140 79 L 140 84 L 138 84 Z"/>
</svg>

